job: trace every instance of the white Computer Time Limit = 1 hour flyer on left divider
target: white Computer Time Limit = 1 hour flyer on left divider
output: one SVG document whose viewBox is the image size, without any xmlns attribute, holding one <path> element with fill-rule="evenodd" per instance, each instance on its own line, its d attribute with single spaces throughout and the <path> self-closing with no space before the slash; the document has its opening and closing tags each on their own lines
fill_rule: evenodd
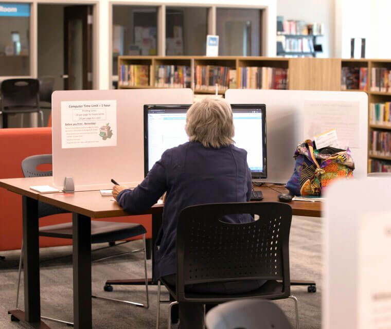
<svg viewBox="0 0 391 329">
<path fill-rule="evenodd" d="M 117 101 L 62 101 L 62 149 L 117 145 Z"/>
</svg>

